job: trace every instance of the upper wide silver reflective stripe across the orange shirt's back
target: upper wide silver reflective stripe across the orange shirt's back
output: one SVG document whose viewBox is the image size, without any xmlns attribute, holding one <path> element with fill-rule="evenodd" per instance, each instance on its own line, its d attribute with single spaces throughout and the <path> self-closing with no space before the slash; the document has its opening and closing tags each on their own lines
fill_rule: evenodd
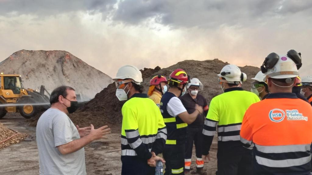
<svg viewBox="0 0 312 175">
<path fill-rule="evenodd" d="M 310 151 L 311 144 L 283 145 L 283 146 L 261 146 L 255 144 L 258 151 L 262 153 L 288 153 Z"/>
</svg>

